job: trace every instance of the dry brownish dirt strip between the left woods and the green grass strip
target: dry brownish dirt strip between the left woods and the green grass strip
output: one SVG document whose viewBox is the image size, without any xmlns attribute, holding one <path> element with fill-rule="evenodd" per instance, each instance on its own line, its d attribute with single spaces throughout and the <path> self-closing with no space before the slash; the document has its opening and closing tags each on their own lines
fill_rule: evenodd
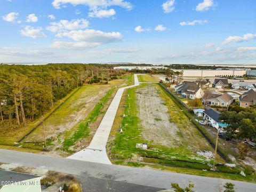
<svg viewBox="0 0 256 192">
<path fill-rule="evenodd" d="M 108 90 L 107 87 L 105 87 L 105 89 L 97 89 L 97 86 L 100 88 L 99 85 L 82 87 L 74 97 L 70 98 L 45 121 L 45 134 L 47 138 L 58 137 L 59 134 L 71 129 L 90 113 L 95 103 L 97 103 Z M 43 127 L 40 126 L 35 132 L 31 133 L 25 141 L 43 141 L 43 139 Z"/>
</svg>

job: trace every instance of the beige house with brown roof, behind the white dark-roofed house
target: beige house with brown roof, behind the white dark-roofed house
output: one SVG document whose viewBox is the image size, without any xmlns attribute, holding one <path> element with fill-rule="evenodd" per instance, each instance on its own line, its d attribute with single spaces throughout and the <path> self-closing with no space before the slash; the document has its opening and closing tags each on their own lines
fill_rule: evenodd
<svg viewBox="0 0 256 192">
<path fill-rule="evenodd" d="M 231 103 L 233 103 L 234 98 L 228 94 L 211 94 L 211 93 L 206 93 L 204 97 L 202 98 L 202 102 L 204 105 L 215 105 L 215 106 L 222 106 L 222 107 L 227 107 Z"/>
</svg>

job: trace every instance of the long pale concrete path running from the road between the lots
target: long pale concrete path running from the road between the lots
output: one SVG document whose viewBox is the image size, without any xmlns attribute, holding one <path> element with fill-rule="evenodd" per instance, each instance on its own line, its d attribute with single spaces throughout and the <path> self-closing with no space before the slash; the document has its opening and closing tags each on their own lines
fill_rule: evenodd
<svg viewBox="0 0 256 192">
<path fill-rule="evenodd" d="M 134 74 L 134 85 L 126 86 L 118 89 L 97 131 L 95 132 L 90 145 L 85 149 L 78 151 L 74 155 L 71 155 L 67 158 L 81 160 L 81 161 L 95 162 L 95 163 L 111 164 L 106 151 L 106 145 L 108 142 L 109 133 L 114 123 L 117 109 L 121 101 L 124 90 L 134 86 L 138 86 L 140 84 L 137 75 L 143 75 L 143 74 Z"/>
</svg>

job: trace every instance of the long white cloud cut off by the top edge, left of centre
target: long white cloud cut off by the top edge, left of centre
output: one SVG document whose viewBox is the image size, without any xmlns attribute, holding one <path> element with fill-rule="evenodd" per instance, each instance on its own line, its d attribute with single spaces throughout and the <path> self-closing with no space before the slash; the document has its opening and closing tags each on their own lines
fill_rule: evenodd
<svg viewBox="0 0 256 192">
<path fill-rule="evenodd" d="M 55 9 L 60 9 L 61 5 L 87 5 L 91 10 L 94 9 L 106 9 L 109 6 L 121 6 L 127 10 L 132 9 L 132 4 L 123 0 L 53 0 L 52 5 Z"/>
</svg>

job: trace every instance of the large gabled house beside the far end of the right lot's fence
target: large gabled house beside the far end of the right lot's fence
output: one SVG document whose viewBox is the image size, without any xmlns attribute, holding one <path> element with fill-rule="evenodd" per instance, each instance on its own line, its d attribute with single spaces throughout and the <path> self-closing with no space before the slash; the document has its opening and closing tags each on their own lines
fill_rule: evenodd
<svg viewBox="0 0 256 192">
<path fill-rule="evenodd" d="M 185 99 L 201 99 L 204 91 L 196 82 L 183 82 L 174 87 L 174 90 Z"/>
</svg>

